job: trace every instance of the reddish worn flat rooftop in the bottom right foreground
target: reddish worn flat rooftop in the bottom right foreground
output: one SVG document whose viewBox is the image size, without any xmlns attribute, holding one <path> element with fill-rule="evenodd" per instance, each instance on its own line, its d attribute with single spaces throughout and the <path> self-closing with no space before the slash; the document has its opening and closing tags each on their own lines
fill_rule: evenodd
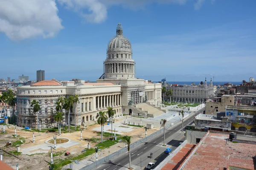
<svg viewBox="0 0 256 170">
<path fill-rule="evenodd" d="M 212 133 L 189 159 L 183 170 L 224 170 L 224 167 L 240 167 L 255 170 L 253 156 L 256 144 L 228 142 L 229 133 Z"/>
</svg>

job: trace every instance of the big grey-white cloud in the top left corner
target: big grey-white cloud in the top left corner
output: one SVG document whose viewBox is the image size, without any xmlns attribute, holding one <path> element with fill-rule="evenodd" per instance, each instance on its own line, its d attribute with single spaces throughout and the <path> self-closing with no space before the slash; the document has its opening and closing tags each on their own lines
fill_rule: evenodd
<svg viewBox="0 0 256 170">
<path fill-rule="evenodd" d="M 11 40 L 54 37 L 64 27 L 55 0 L 1 0 L 0 32 Z"/>
</svg>

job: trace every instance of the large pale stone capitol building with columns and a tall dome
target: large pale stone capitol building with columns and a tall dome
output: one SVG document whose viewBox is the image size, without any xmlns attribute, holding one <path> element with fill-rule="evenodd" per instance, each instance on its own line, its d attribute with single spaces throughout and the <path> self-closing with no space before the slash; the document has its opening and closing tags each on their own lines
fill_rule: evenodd
<svg viewBox="0 0 256 170">
<path fill-rule="evenodd" d="M 164 113 L 157 107 L 162 100 L 162 85 L 138 79 L 135 72 L 131 42 L 123 37 L 122 26 L 118 24 L 116 37 L 108 44 L 104 73 L 99 75 L 97 82 L 80 80 L 75 84 L 52 79 L 17 87 L 17 124 L 37 127 L 37 114 L 31 107 L 31 102 L 36 100 L 41 107 L 38 112 L 41 127 L 56 126 L 53 117 L 58 97 L 68 98 L 75 94 L 79 96 L 79 103 L 70 114 L 71 125 L 95 123 L 96 114 L 107 111 L 108 107 L 116 110 L 116 118 L 123 115 L 154 117 Z"/>
</svg>

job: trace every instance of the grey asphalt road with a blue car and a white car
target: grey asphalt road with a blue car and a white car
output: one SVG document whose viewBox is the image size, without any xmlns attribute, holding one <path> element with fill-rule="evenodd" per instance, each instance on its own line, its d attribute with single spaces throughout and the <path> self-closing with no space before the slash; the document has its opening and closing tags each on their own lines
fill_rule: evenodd
<svg viewBox="0 0 256 170">
<path fill-rule="evenodd" d="M 194 116 L 189 116 L 187 119 L 184 119 L 183 125 L 187 125 L 194 120 Z M 182 122 L 177 123 L 176 125 L 165 130 L 165 141 L 167 146 L 175 150 L 180 142 L 185 140 L 185 132 L 181 133 Z M 154 136 L 151 140 L 143 142 L 140 145 L 132 148 L 131 153 L 131 165 L 132 167 L 138 166 L 140 164 L 145 167 L 149 162 L 154 162 L 156 166 L 163 161 L 168 154 L 164 153 L 166 147 L 162 146 L 163 144 L 163 133 L 160 133 L 157 136 Z M 150 153 L 153 153 L 152 159 L 149 157 Z M 99 170 L 119 170 L 122 167 L 129 166 L 129 153 L 123 153 L 116 157 L 113 160 L 110 160 L 108 163 L 99 165 L 97 169 Z M 141 160 L 141 161 L 140 161 Z M 139 168 L 140 169 L 140 168 Z"/>
</svg>

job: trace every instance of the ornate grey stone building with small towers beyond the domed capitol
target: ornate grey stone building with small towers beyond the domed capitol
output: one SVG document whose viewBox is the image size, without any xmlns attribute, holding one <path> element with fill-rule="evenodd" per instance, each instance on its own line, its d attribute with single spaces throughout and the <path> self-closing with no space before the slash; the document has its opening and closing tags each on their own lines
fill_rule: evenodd
<svg viewBox="0 0 256 170">
<path fill-rule="evenodd" d="M 206 102 L 207 99 L 215 96 L 216 87 L 212 85 L 212 79 L 210 84 L 207 85 L 205 79 L 204 84 L 200 85 L 184 85 L 182 87 L 167 86 L 167 90 L 172 89 L 173 96 L 172 100 L 176 102 Z"/>
</svg>

